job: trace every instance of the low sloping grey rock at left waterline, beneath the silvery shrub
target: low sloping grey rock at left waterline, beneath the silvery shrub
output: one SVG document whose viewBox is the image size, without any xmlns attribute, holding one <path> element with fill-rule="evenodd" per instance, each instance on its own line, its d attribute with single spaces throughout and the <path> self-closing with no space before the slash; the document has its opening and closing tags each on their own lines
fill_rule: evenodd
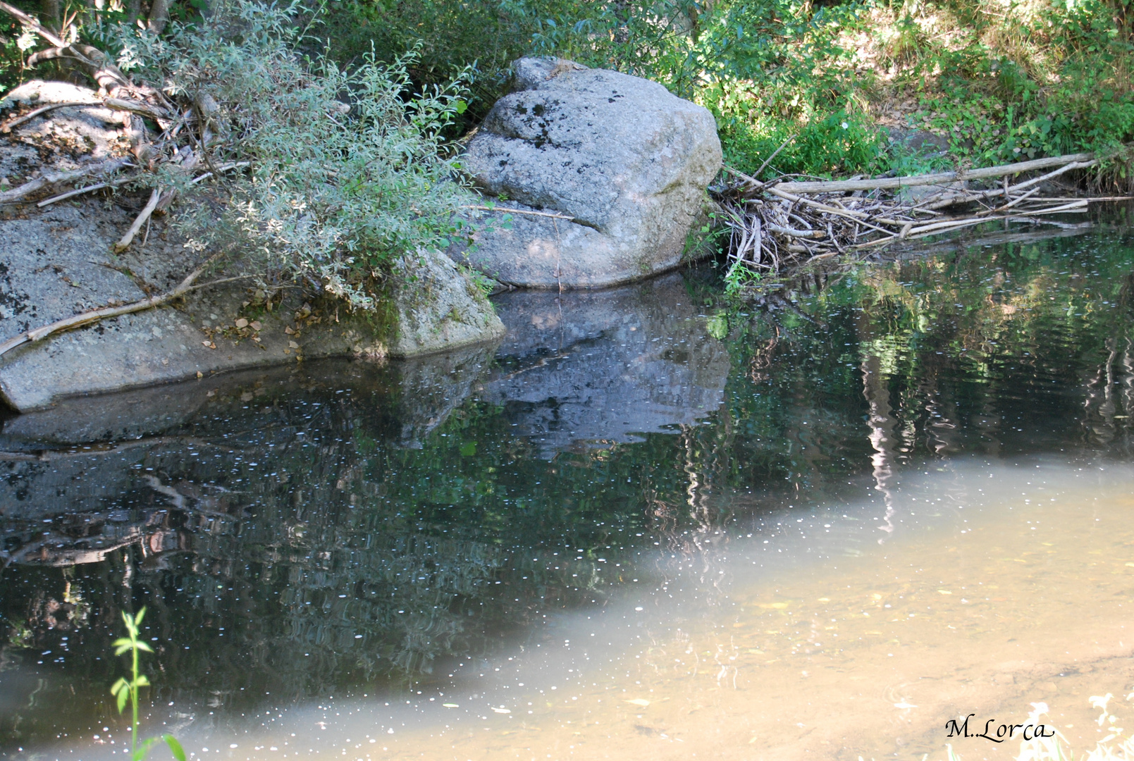
<svg viewBox="0 0 1134 761">
<path fill-rule="evenodd" d="M 144 278 L 162 289 L 180 279 L 147 271 L 169 262 L 176 240 L 154 234 L 145 256 L 116 257 L 111 245 L 129 214 L 100 202 L 57 204 L 27 219 L 0 220 L 0 341 L 108 304 L 138 301 Z M 156 227 L 156 225 L 155 225 Z M 156 255 L 167 254 L 167 255 Z M 145 277 L 149 276 L 149 277 Z M 12 409 L 167 383 L 299 358 L 412 357 L 498 339 L 503 324 L 479 289 L 439 253 L 400 262 L 380 313 L 350 314 L 333 302 L 287 294 L 271 311 L 248 284 L 194 291 L 176 308 L 103 320 L 25 344 L 0 357 L 0 396 Z"/>
</svg>

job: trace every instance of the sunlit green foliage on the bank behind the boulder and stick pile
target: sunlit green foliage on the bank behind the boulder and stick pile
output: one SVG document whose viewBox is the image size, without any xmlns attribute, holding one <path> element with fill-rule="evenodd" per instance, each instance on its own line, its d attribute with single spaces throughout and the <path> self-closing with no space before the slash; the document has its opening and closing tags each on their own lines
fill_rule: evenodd
<svg viewBox="0 0 1134 761">
<path fill-rule="evenodd" d="M 879 101 L 907 95 L 919 113 L 903 126 L 948 135 L 953 161 L 1108 151 L 1134 139 L 1131 20 L 1119 0 L 1024 2 L 1007 12 L 985 0 L 358 0 L 342 8 L 335 24 L 366 19 L 358 34 L 376 41 L 380 58 L 424 41 L 413 71 L 422 82 L 475 62 L 471 121 L 501 94 L 511 59 L 561 56 L 657 79 L 704 104 L 738 169 L 754 171 L 792 138 L 764 177 L 950 163 L 885 138 Z M 361 40 L 353 44 L 361 50 Z"/>
</svg>

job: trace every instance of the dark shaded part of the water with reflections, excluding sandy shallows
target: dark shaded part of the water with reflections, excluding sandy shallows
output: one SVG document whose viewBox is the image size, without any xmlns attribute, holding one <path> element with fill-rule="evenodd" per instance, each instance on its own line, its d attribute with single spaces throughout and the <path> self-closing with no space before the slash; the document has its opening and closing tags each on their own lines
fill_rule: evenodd
<svg viewBox="0 0 1134 761">
<path fill-rule="evenodd" d="M 150 610 L 154 705 L 197 721 L 416 693 L 644 583 L 657 548 L 885 497 L 909 464 L 1128 460 L 1134 243 L 1109 221 L 746 307 L 696 273 L 506 294 L 499 347 L 8 420 L 0 754 L 119 721 L 121 610 Z"/>
</svg>

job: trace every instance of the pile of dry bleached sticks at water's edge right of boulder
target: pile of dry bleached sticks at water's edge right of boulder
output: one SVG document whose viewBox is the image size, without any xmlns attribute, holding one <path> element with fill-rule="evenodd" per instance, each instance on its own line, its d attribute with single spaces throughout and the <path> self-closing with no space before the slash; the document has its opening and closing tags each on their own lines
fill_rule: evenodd
<svg viewBox="0 0 1134 761">
<path fill-rule="evenodd" d="M 1085 211 L 1091 201 L 1110 198 L 1056 198 L 1038 194 L 1043 183 L 1095 164 L 1098 158 L 1093 154 L 1075 153 L 912 177 L 767 183 L 726 167 L 737 181 L 714 196 L 730 228 L 729 272 L 737 268 L 779 272 L 787 265 L 991 220 L 1035 221 L 1042 214 Z M 1040 170 L 1050 171 L 1016 184 L 1010 181 L 1014 176 Z M 1001 181 L 989 189 L 968 189 L 970 180 L 989 179 Z M 917 189 L 898 193 L 903 188 Z M 964 211 L 948 213 L 946 210 L 950 208 Z"/>
</svg>

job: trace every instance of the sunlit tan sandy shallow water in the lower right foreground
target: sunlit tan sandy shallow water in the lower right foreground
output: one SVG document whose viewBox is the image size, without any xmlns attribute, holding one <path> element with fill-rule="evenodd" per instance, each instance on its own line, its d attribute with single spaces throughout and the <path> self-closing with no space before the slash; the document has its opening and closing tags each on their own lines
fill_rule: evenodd
<svg viewBox="0 0 1134 761">
<path fill-rule="evenodd" d="M 553 637 L 416 702 L 355 696 L 184 737 L 197 758 L 1013 758 L 949 719 L 1046 701 L 1075 749 L 1134 687 L 1134 468 L 968 462 L 856 502 L 678 538 Z M 775 561 L 772 558 L 775 557 Z M 446 707 L 448 703 L 450 707 Z M 1134 726 L 1134 725 L 1132 725 Z M 392 733 L 391 733 L 392 730 Z M 235 747 L 234 747 L 235 746 Z M 204 750 L 204 749 L 210 750 Z M 220 749 L 220 750 L 218 750 Z M 109 745 L 68 749 L 104 755 Z"/>
</svg>

